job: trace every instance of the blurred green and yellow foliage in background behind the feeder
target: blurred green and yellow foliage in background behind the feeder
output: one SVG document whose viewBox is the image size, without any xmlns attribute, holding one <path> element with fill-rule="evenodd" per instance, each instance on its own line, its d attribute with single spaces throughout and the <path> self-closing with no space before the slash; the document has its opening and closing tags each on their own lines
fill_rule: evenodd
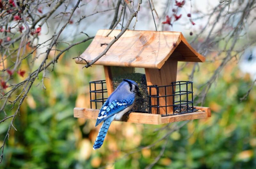
<svg viewBox="0 0 256 169">
<path fill-rule="evenodd" d="M 103 147 L 92 150 L 99 128 L 95 129 L 93 120 L 74 118 L 73 108 L 77 105 L 88 107 L 88 82 L 104 77 L 102 67 L 81 69 L 81 65 L 70 59 L 83 48 L 70 50 L 55 65 L 54 71 L 47 73 L 46 90 L 41 89 L 41 79 L 36 82 L 39 85 L 31 89 L 15 120 L 18 131 L 12 129 L 10 132 L 0 168 L 82 169 L 108 163 L 108 167 L 115 168 L 144 168 L 155 160 L 165 144 L 165 139 L 158 140 L 172 126 L 184 123 L 173 123 L 162 129 L 166 124 L 113 122 Z M 178 80 L 186 80 L 184 74 L 191 71 L 191 66 L 180 73 Z M 194 86 L 206 81 L 207 74 L 216 67 L 216 64 L 202 64 L 205 73 L 196 73 Z M 256 90 L 254 88 L 245 101 L 240 101 L 251 81 L 248 75 L 237 70 L 236 63 L 226 69 L 203 105 L 212 108 L 212 117 L 188 122 L 167 136 L 164 154 L 153 168 L 256 167 Z M 199 90 L 195 89 L 195 95 L 197 93 Z M 1 140 L 8 123 L 8 120 L 1 123 Z M 134 151 L 153 143 L 156 144 L 151 148 Z M 126 154 L 131 151 L 134 153 Z"/>
</svg>

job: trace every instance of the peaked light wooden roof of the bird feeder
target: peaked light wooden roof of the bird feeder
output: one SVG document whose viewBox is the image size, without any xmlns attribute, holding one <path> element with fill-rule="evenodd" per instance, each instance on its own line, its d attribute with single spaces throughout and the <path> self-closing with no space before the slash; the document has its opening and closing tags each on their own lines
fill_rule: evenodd
<svg viewBox="0 0 256 169">
<path fill-rule="evenodd" d="M 109 43 L 121 30 L 99 30 L 92 43 L 81 57 L 90 62 L 105 48 L 102 43 Z M 171 56 L 171 57 L 170 57 Z M 197 53 L 187 42 L 181 32 L 167 31 L 131 31 L 127 30 L 110 47 L 95 65 L 143 67 L 160 69 L 164 62 L 170 60 L 204 62 L 204 56 Z M 78 64 L 86 64 L 76 59 Z"/>
</svg>

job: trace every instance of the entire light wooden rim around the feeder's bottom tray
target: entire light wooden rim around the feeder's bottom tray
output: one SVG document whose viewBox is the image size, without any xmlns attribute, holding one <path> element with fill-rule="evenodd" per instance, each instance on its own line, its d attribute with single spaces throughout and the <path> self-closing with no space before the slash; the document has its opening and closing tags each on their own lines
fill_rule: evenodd
<svg viewBox="0 0 256 169">
<path fill-rule="evenodd" d="M 123 120 L 123 122 L 143 123 L 143 124 L 164 124 L 164 123 L 172 123 L 172 122 L 178 122 L 178 121 L 211 117 L 210 108 L 208 107 L 194 107 L 194 108 L 199 109 L 199 112 L 186 113 L 186 114 L 173 115 L 173 116 L 164 116 L 164 117 L 162 117 L 159 114 L 132 112 L 129 114 L 128 119 Z M 96 120 L 98 117 L 99 111 L 100 111 L 99 109 L 74 108 L 74 117 Z"/>
</svg>

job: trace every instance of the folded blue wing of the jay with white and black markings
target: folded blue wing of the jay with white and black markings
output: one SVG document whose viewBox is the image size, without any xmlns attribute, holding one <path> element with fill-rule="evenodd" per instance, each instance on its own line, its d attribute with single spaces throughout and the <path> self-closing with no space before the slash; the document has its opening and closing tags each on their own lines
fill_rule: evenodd
<svg viewBox="0 0 256 169">
<path fill-rule="evenodd" d="M 130 100 L 122 100 L 122 101 L 113 101 L 113 102 L 108 102 L 106 101 L 103 106 L 100 109 L 95 127 L 100 124 L 102 121 L 108 119 L 108 117 L 124 110 L 128 106 L 131 106 L 132 103 L 134 102 L 135 98 L 131 98 Z"/>
</svg>

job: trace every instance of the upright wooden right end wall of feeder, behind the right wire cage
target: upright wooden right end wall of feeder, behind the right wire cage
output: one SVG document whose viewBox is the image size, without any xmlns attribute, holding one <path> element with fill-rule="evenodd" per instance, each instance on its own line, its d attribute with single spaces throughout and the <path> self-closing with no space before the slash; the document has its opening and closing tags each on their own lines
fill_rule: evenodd
<svg viewBox="0 0 256 169">
<path fill-rule="evenodd" d="M 145 74 L 147 79 L 147 85 L 157 85 L 157 86 L 165 86 L 165 85 L 171 85 L 173 81 L 176 81 L 177 76 L 177 65 L 178 61 L 171 61 L 170 58 L 165 62 L 164 66 L 161 69 L 150 69 L 145 68 Z M 175 91 L 175 87 L 174 87 Z M 149 88 L 148 88 L 149 92 Z M 156 95 L 156 89 L 151 88 L 151 95 Z M 159 88 L 159 96 L 164 95 L 172 95 L 172 87 L 166 87 L 166 93 L 165 88 Z M 159 106 L 166 106 L 166 105 L 172 105 L 172 96 L 166 97 L 166 103 L 165 103 L 165 97 L 159 97 Z M 157 105 L 156 98 L 151 99 L 151 105 Z M 167 113 L 173 112 L 172 106 L 167 107 Z M 152 108 L 152 113 L 156 114 L 156 108 Z M 160 114 L 165 114 L 166 109 L 165 107 L 159 108 Z"/>
</svg>

